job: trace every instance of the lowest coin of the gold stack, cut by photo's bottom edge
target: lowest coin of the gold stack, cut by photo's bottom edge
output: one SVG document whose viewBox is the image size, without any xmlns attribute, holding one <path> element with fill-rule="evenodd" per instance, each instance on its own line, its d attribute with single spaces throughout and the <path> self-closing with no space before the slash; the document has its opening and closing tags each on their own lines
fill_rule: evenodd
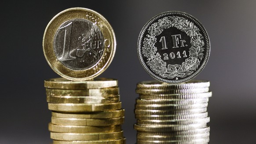
<svg viewBox="0 0 256 144">
<path fill-rule="evenodd" d="M 94 140 L 94 141 L 60 141 L 53 140 L 53 144 L 126 144 L 126 138 L 118 140 Z"/>
</svg>

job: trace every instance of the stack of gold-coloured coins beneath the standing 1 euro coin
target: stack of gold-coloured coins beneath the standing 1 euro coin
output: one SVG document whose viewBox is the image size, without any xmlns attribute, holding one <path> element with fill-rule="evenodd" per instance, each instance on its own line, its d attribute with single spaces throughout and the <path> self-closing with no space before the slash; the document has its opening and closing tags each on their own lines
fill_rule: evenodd
<svg viewBox="0 0 256 144">
<path fill-rule="evenodd" d="M 117 80 L 44 81 L 53 144 L 125 144 Z"/>
</svg>

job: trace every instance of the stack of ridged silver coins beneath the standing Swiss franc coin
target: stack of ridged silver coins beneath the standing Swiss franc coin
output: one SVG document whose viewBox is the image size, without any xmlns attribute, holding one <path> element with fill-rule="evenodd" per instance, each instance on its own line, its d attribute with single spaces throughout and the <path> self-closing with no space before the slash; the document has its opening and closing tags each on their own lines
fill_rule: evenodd
<svg viewBox="0 0 256 144">
<path fill-rule="evenodd" d="M 181 84 L 144 81 L 137 84 L 137 144 L 205 144 L 209 141 L 207 112 L 210 83 Z"/>
</svg>

